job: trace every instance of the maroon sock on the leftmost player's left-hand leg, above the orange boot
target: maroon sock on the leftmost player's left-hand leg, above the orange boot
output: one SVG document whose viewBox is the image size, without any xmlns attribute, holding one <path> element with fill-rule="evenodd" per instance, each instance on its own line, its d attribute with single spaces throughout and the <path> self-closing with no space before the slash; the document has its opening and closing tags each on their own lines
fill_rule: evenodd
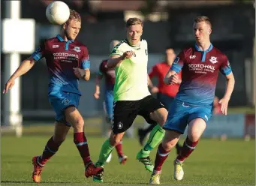
<svg viewBox="0 0 256 186">
<path fill-rule="evenodd" d="M 58 144 L 53 141 L 53 136 L 48 140 L 47 145 L 44 147 L 43 154 L 38 158 L 38 163 L 41 166 L 44 166 L 45 163 L 47 163 L 47 160 L 50 160 L 50 158 L 58 151 L 59 146 L 62 143 Z"/>
</svg>

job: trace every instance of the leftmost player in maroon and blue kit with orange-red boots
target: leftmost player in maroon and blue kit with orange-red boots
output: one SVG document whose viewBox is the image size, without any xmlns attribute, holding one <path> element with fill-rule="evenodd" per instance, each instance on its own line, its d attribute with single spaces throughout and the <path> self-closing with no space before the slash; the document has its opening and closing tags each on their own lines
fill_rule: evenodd
<svg viewBox="0 0 256 186">
<path fill-rule="evenodd" d="M 103 171 L 92 163 L 84 133 L 83 117 L 77 110 L 81 96 L 78 89 L 79 80 L 88 81 L 90 77 L 88 49 L 83 43 L 75 40 L 80 28 L 80 14 L 70 10 L 69 20 L 62 26 L 61 33 L 45 40 L 31 57 L 22 62 L 6 83 L 3 92 L 8 93 L 18 77 L 31 70 L 35 62 L 46 58 L 50 75 L 48 98 L 56 113 L 56 122 L 54 134 L 45 145 L 43 153 L 32 158 L 32 178 L 37 183 L 41 181 L 45 163 L 59 150 L 71 126 L 74 128 L 74 144 L 83 159 L 86 177 Z"/>
</svg>

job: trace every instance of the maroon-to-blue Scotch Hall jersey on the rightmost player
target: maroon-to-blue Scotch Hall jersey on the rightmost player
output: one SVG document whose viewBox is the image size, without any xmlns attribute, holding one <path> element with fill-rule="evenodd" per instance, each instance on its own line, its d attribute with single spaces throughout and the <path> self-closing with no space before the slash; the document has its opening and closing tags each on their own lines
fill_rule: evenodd
<svg viewBox="0 0 256 186">
<path fill-rule="evenodd" d="M 227 56 L 215 46 L 202 51 L 197 45 L 183 49 L 173 62 L 171 70 L 182 70 L 182 83 L 176 99 L 188 104 L 210 105 L 215 96 L 218 71 L 230 74 L 231 68 Z"/>
</svg>

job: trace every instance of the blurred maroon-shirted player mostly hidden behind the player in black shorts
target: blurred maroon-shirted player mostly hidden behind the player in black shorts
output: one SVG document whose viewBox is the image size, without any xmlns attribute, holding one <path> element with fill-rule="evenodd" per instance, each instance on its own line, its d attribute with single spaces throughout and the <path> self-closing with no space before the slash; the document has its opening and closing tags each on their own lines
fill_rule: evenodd
<svg viewBox="0 0 256 186">
<path fill-rule="evenodd" d="M 120 43 L 119 40 L 112 40 L 110 43 L 110 52 L 112 49 Z M 111 133 L 111 124 L 113 119 L 113 102 L 114 102 L 114 86 L 115 86 L 115 68 L 107 68 L 107 59 L 103 60 L 101 62 L 101 65 L 99 67 L 98 76 L 96 77 L 96 89 L 94 97 L 95 99 L 100 98 L 101 94 L 101 88 L 100 88 L 100 81 L 101 79 L 105 77 L 105 92 L 104 92 L 104 111 L 106 112 L 106 121 L 109 125 L 109 136 Z M 127 160 L 127 156 L 122 152 L 122 140 L 119 142 L 119 144 L 116 145 L 116 151 L 119 157 L 119 163 L 125 164 Z M 107 163 L 110 162 L 112 157 L 112 154 L 109 155 L 107 158 Z"/>
</svg>

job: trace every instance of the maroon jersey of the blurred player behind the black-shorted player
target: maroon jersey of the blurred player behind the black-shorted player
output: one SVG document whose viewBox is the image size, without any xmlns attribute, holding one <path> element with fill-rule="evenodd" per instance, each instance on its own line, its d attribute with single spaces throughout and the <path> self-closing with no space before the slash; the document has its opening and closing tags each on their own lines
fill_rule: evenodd
<svg viewBox="0 0 256 186">
<path fill-rule="evenodd" d="M 107 60 L 103 60 L 101 62 L 98 74 L 105 77 L 106 89 L 113 90 L 116 81 L 116 74 L 114 68 L 107 68 Z"/>
</svg>

